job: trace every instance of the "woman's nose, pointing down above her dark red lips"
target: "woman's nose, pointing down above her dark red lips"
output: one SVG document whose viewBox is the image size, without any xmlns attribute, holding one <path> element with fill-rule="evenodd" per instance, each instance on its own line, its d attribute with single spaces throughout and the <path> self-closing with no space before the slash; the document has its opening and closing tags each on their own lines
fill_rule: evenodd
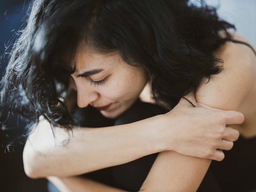
<svg viewBox="0 0 256 192">
<path fill-rule="evenodd" d="M 76 84 L 77 89 L 77 105 L 80 108 L 87 107 L 89 103 L 97 100 L 100 94 L 91 86 L 84 84 Z"/>
</svg>

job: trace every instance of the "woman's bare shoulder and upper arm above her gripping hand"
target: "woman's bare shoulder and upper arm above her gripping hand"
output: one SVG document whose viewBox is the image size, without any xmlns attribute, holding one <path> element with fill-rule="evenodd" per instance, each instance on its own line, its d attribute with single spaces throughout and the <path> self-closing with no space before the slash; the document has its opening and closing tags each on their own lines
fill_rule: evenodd
<svg viewBox="0 0 256 192">
<path fill-rule="evenodd" d="M 250 44 L 244 37 L 233 34 L 233 39 Z M 256 57 L 251 48 L 228 41 L 214 54 L 223 60 L 223 70 L 204 79 L 196 90 L 196 100 L 224 110 L 236 110 L 246 98 L 256 80 Z"/>
</svg>

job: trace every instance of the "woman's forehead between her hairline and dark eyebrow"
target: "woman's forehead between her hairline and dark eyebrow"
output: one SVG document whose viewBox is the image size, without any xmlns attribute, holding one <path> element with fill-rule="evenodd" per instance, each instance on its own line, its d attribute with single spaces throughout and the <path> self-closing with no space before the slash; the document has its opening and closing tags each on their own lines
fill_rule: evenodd
<svg viewBox="0 0 256 192">
<path fill-rule="evenodd" d="M 86 46 L 78 46 L 73 65 L 76 66 L 76 72 L 83 72 L 93 68 L 113 68 L 123 62 L 118 52 L 104 54 Z"/>
</svg>

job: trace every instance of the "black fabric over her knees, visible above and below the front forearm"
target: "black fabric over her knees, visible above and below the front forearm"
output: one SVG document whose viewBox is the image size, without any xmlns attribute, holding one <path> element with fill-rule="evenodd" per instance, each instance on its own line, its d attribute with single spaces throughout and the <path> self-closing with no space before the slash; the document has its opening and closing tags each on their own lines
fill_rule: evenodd
<svg viewBox="0 0 256 192">
<path fill-rule="evenodd" d="M 115 119 L 108 119 L 102 116 L 97 109 L 90 105 L 86 108 L 76 108 L 74 116 L 76 118 L 76 124 L 82 127 L 97 128 L 133 123 L 166 112 L 168 110 L 150 103 L 141 102 L 138 99 L 130 108 Z M 158 153 L 144 156 L 126 164 L 86 173 L 81 175 L 81 177 L 131 192 L 139 191 L 157 155 Z M 49 192 L 59 192 L 50 182 L 48 184 L 48 190 Z"/>
</svg>

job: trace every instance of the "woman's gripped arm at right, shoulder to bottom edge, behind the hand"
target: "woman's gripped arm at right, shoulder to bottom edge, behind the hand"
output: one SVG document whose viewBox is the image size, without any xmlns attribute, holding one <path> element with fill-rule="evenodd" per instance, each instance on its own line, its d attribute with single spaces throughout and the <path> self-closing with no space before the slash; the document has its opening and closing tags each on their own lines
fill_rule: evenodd
<svg viewBox="0 0 256 192">
<path fill-rule="evenodd" d="M 241 60 L 241 54 L 235 54 L 235 50 L 236 47 L 231 47 L 229 52 L 221 55 L 224 59 L 224 70 L 208 84 L 202 84 L 198 88 L 198 102 L 214 108 L 237 110 L 246 98 L 255 85 L 256 70 L 244 58 Z M 174 151 L 161 152 L 141 190 L 196 191 L 210 163 L 209 159 L 185 156 Z"/>
</svg>

